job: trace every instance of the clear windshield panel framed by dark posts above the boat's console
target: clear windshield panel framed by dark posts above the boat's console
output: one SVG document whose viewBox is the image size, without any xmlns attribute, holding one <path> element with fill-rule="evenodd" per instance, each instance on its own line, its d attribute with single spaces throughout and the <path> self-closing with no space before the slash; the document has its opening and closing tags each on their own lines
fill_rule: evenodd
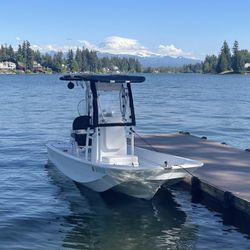
<svg viewBox="0 0 250 250">
<path fill-rule="evenodd" d="M 98 123 L 131 123 L 129 94 L 125 83 L 97 83 Z"/>
</svg>

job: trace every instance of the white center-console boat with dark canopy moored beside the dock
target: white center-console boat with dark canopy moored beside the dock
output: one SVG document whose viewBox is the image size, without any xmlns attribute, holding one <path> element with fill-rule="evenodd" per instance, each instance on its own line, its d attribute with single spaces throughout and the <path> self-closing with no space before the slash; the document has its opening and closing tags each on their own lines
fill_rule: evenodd
<svg viewBox="0 0 250 250">
<path fill-rule="evenodd" d="M 85 107 L 73 122 L 70 142 L 47 144 L 48 156 L 75 182 L 97 192 L 112 189 L 151 199 L 163 184 L 172 185 L 203 165 L 134 145 L 131 83 L 143 82 L 143 76 L 67 75 L 60 79 L 69 81 L 70 89 L 73 82 L 82 89 Z"/>
</svg>

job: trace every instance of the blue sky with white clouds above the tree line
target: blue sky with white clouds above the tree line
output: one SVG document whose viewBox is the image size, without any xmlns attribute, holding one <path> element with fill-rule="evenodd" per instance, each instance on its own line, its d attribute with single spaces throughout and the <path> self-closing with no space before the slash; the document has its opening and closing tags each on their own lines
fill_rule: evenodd
<svg viewBox="0 0 250 250">
<path fill-rule="evenodd" d="M 250 50 L 249 13 L 248 0 L 2 1 L 0 43 L 202 59 L 224 40 Z"/>
</svg>

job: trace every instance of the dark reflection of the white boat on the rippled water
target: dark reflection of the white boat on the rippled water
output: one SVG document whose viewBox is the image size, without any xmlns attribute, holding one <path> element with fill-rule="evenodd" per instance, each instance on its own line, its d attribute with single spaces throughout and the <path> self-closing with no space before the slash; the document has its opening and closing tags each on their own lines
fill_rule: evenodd
<svg viewBox="0 0 250 250">
<path fill-rule="evenodd" d="M 65 248 L 171 249 L 195 240 L 195 228 L 183 228 L 186 215 L 167 190 L 160 189 L 151 201 L 100 194 L 74 185 L 52 164 L 47 171 L 60 198 L 69 202 L 70 214 L 62 223 Z"/>
</svg>

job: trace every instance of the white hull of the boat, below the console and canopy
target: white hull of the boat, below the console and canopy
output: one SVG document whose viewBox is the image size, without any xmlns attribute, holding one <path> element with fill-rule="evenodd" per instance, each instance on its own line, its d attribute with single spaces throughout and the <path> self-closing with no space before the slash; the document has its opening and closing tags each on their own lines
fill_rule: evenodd
<svg viewBox="0 0 250 250">
<path fill-rule="evenodd" d="M 47 149 L 49 160 L 64 175 L 96 192 L 111 189 L 136 198 L 151 199 L 162 184 L 170 186 L 187 175 L 181 167 L 163 167 L 159 163 L 144 166 L 143 160 L 139 167 L 92 163 L 74 155 L 69 146 L 62 144 L 49 144 Z M 152 151 L 137 148 L 137 153 L 143 156 L 152 154 Z M 167 157 L 156 154 L 159 154 L 156 155 L 158 159 Z M 189 171 L 193 172 L 199 166 L 197 162 L 189 167 Z"/>
</svg>

